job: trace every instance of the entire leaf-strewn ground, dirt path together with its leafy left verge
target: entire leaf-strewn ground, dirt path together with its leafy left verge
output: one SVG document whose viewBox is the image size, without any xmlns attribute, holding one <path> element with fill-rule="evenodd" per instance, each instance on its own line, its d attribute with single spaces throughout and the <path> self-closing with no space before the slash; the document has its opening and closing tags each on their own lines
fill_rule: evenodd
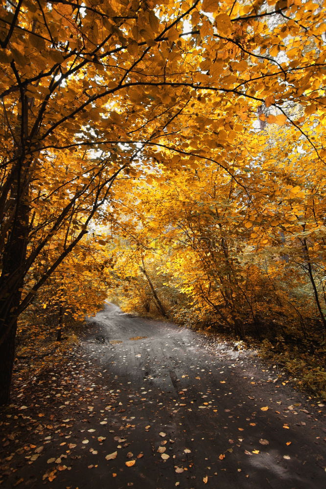
<svg viewBox="0 0 326 489">
<path fill-rule="evenodd" d="M 319 489 L 324 402 L 277 366 L 108 304 L 64 361 L 16 367 L 2 487 Z"/>
</svg>

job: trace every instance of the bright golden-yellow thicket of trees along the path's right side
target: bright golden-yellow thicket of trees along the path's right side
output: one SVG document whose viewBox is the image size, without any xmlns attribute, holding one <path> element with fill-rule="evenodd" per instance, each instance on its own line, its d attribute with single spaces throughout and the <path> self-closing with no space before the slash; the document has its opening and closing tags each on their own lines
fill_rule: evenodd
<svg viewBox="0 0 326 489">
<path fill-rule="evenodd" d="M 178 175 L 162 170 L 163 183 L 143 182 L 133 193 L 123 184 L 127 219 L 120 209 L 115 233 L 129 247 L 111 253 L 117 283 L 128 282 L 119 295 L 127 310 L 141 311 L 137 263 L 144 254 L 163 278 L 156 280 L 161 299 L 176 292 L 187 298 L 173 308 L 175 317 L 188 321 L 188 307 L 198 323 L 241 337 L 323 337 L 324 167 L 305 145 L 286 165 L 280 161 L 279 147 L 288 148 L 291 132 L 277 127 L 246 135 L 248 150 L 260 141 L 260 161 L 245 172 L 251 174 L 246 192 L 214 164 Z"/>
</svg>

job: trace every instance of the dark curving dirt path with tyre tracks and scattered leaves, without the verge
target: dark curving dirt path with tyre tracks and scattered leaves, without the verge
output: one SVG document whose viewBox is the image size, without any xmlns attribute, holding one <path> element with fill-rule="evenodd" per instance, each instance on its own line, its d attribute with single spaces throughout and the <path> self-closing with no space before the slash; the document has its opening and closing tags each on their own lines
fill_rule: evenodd
<svg viewBox="0 0 326 489">
<path fill-rule="evenodd" d="M 198 334 L 112 304 L 94 324 L 86 345 L 120 407 L 108 413 L 108 427 L 116 435 L 123 426 L 128 443 L 112 448 L 118 452 L 110 461 L 116 487 L 326 486 L 323 406 L 311 407 L 278 372 L 246 352 L 209 353 Z M 133 467 L 125 466 L 128 452 Z M 139 453 L 143 457 L 135 458 Z"/>
</svg>

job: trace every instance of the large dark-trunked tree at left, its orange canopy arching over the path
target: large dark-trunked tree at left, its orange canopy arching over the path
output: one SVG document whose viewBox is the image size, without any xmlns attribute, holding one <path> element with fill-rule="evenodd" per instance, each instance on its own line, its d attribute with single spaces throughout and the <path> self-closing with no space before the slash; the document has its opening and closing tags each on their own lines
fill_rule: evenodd
<svg viewBox="0 0 326 489">
<path fill-rule="evenodd" d="M 1 402 L 19 314 L 107 217 L 118 176 L 210 161 L 245 189 L 238 134 L 262 104 L 325 156 L 288 114 L 322 113 L 322 20 L 296 0 L 1 1 Z"/>
</svg>

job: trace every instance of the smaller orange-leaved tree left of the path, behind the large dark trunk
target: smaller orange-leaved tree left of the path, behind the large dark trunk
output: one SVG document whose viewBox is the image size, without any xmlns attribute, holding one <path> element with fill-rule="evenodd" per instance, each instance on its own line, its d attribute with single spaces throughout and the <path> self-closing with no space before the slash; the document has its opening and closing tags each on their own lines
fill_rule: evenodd
<svg viewBox="0 0 326 489">
<path fill-rule="evenodd" d="M 32 324 L 44 324 L 48 337 L 60 341 L 70 325 L 83 320 L 85 315 L 91 317 L 102 308 L 107 297 L 111 261 L 98 243 L 101 239 L 92 234 L 76 244 L 35 294 L 32 304 L 25 310 L 25 317 L 20 316 L 24 330 L 28 329 L 29 317 Z M 27 277 L 26 288 L 28 279 L 35 280 L 40 269 L 42 275 L 42 264 L 36 260 Z"/>
</svg>

